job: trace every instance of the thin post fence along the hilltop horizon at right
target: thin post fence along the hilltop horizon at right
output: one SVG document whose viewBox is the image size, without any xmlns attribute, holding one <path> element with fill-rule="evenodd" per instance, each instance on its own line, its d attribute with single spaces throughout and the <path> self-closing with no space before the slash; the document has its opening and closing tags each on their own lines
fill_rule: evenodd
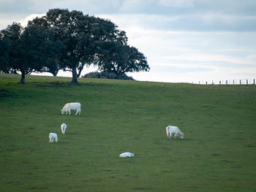
<svg viewBox="0 0 256 192">
<path fill-rule="evenodd" d="M 195 82 L 192 82 L 193 84 Z M 203 80 L 199 81 L 201 85 L 255 85 L 255 79 L 241 79 L 241 80 Z"/>
</svg>

